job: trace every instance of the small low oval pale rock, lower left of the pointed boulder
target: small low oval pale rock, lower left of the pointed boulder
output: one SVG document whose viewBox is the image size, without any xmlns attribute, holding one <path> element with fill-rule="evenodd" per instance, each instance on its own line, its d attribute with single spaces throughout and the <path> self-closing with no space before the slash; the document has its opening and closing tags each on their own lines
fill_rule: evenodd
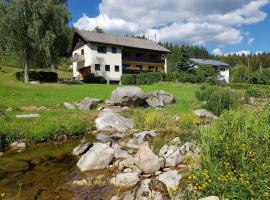
<svg viewBox="0 0 270 200">
<path fill-rule="evenodd" d="M 122 173 L 113 177 L 111 184 L 120 189 L 128 189 L 136 186 L 139 181 L 137 173 Z"/>
</svg>

